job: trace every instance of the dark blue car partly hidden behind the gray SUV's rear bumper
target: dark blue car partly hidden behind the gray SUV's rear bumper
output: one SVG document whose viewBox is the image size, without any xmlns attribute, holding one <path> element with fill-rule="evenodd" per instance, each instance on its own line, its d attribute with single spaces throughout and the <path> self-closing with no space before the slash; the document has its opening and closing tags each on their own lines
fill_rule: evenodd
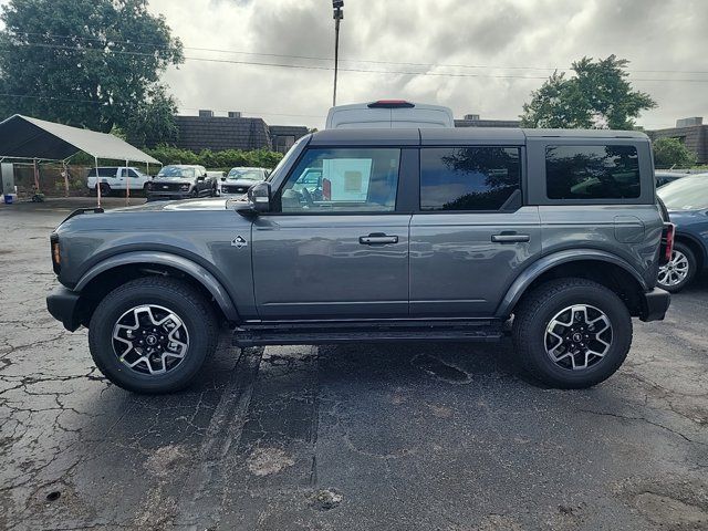
<svg viewBox="0 0 708 531">
<path fill-rule="evenodd" d="M 676 225 L 671 259 L 659 269 L 658 283 L 676 293 L 708 268 L 708 174 L 668 184 L 658 196 Z"/>
</svg>

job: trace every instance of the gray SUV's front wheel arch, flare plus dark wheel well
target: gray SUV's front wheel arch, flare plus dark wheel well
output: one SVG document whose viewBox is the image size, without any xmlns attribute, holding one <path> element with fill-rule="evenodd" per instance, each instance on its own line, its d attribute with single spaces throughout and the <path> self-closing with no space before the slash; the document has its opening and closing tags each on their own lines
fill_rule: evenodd
<svg viewBox="0 0 708 531">
<path fill-rule="evenodd" d="M 150 274 L 176 277 L 212 301 L 222 321 L 238 322 L 233 301 L 221 282 L 198 263 L 168 252 L 133 251 L 110 257 L 86 271 L 74 287 L 81 293 L 82 322 L 87 325 L 101 300 L 129 280 Z"/>
</svg>

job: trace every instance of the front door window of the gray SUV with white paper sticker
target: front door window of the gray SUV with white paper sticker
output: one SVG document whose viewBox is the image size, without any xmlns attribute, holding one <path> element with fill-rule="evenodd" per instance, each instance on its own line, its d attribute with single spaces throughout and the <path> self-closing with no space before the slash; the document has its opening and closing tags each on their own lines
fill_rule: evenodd
<svg viewBox="0 0 708 531">
<path fill-rule="evenodd" d="M 309 149 L 280 192 L 283 212 L 396 208 L 400 149 Z"/>
</svg>

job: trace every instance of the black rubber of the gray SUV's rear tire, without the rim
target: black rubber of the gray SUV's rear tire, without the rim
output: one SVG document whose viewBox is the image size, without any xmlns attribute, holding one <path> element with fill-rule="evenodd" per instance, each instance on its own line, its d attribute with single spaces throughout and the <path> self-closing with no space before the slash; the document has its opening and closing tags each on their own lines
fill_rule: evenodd
<svg viewBox="0 0 708 531">
<path fill-rule="evenodd" d="M 602 360 L 585 369 L 572 371 L 559 366 L 545 352 L 545 331 L 550 321 L 563 309 L 587 304 L 601 310 L 612 325 L 612 344 Z M 612 292 L 589 291 L 573 287 L 551 298 L 532 317 L 531 337 L 527 337 L 527 353 L 532 356 L 535 372 L 561 386 L 586 387 L 610 377 L 624 362 L 632 344 L 632 317 L 624 303 Z"/>
</svg>

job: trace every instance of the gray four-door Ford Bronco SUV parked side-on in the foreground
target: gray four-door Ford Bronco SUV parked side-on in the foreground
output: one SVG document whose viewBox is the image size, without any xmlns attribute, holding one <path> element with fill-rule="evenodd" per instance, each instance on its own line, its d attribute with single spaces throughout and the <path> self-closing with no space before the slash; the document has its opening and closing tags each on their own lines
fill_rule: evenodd
<svg viewBox="0 0 708 531">
<path fill-rule="evenodd" d="M 222 324 L 237 346 L 511 330 L 534 378 L 579 388 L 622 365 L 631 317 L 664 317 L 673 226 L 642 133 L 334 129 L 248 201 L 80 210 L 51 244 L 50 313 L 135 392 L 186 386 Z"/>
</svg>

